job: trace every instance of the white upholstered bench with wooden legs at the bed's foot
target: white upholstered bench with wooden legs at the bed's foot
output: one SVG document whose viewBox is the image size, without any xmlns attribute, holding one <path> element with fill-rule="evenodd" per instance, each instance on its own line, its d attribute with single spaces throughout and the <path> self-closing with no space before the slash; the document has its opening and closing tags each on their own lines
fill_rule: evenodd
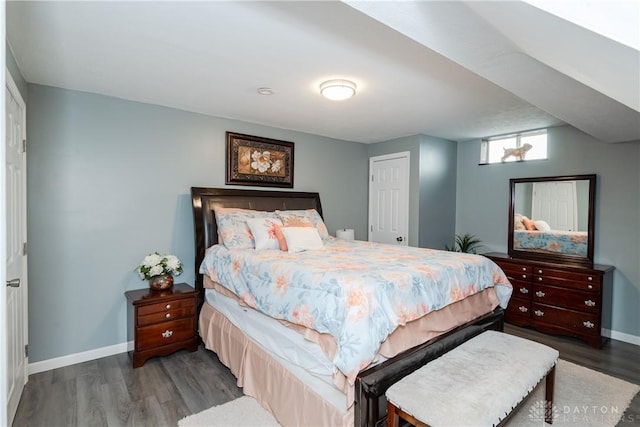
<svg viewBox="0 0 640 427">
<path fill-rule="evenodd" d="M 402 418 L 417 426 L 495 426 L 544 378 L 541 411 L 551 424 L 557 360 L 546 345 L 483 332 L 389 387 L 387 425 Z"/>
</svg>

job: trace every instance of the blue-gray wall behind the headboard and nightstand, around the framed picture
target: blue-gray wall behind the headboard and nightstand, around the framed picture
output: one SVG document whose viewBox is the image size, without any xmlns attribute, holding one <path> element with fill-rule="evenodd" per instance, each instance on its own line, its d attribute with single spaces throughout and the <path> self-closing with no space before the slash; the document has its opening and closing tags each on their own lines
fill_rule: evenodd
<svg viewBox="0 0 640 427">
<path fill-rule="evenodd" d="M 105 96 L 28 85 L 29 359 L 127 341 L 123 293 L 153 251 L 194 283 L 189 188 L 222 187 L 225 131 L 295 142 L 295 191 L 366 236 L 367 147 Z"/>
</svg>

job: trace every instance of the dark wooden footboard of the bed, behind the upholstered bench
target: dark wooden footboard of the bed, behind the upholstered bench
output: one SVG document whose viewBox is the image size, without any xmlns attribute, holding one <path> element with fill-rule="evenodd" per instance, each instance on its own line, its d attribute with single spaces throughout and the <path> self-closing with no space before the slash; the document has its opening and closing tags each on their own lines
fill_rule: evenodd
<svg viewBox="0 0 640 427">
<path fill-rule="evenodd" d="M 504 329 L 502 308 L 497 307 L 492 313 L 360 372 L 355 383 L 355 426 L 385 426 L 387 418 L 385 392 L 392 384 L 489 329 L 496 331 Z"/>
</svg>

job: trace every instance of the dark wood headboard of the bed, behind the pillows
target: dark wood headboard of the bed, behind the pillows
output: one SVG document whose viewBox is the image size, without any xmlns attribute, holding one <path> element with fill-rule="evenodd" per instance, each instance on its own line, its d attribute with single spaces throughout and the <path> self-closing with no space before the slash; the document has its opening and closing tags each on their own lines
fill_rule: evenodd
<svg viewBox="0 0 640 427">
<path fill-rule="evenodd" d="M 195 231 L 196 289 L 200 292 L 201 298 L 203 277 L 198 273 L 200 264 L 206 249 L 218 243 L 218 227 L 213 212 L 215 207 L 258 211 L 315 209 L 322 216 L 318 193 L 191 187 L 191 201 Z"/>
</svg>

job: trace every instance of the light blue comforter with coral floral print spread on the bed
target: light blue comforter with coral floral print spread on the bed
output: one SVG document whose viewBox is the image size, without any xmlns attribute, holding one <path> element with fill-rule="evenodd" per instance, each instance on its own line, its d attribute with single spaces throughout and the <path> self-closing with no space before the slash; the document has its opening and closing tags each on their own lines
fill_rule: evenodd
<svg viewBox="0 0 640 427">
<path fill-rule="evenodd" d="M 506 307 L 512 288 L 480 255 L 330 238 L 322 250 L 207 250 L 200 272 L 247 305 L 331 334 L 334 365 L 353 385 L 398 326 L 496 287 Z"/>
</svg>

